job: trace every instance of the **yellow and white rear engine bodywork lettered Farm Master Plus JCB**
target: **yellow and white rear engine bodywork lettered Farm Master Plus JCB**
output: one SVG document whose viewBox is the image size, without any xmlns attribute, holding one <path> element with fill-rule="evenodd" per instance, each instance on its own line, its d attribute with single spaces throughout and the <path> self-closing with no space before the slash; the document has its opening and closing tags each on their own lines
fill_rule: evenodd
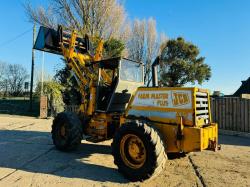
<svg viewBox="0 0 250 187">
<path fill-rule="evenodd" d="M 218 127 L 212 123 L 208 90 L 138 88 L 126 115 L 146 119 L 155 126 L 164 137 L 167 152 L 214 150 L 218 143 Z"/>
</svg>

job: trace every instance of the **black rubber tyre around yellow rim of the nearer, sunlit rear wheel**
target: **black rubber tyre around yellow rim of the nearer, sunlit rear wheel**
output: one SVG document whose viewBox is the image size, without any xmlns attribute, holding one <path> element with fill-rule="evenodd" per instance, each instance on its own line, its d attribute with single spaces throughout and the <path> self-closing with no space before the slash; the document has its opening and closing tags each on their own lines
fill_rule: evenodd
<svg viewBox="0 0 250 187">
<path fill-rule="evenodd" d="M 147 170 L 147 173 L 143 175 L 132 175 L 125 171 L 124 167 L 126 167 L 120 156 L 119 156 L 119 141 L 122 138 L 122 135 L 126 133 L 126 131 L 136 131 L 142 133 L 145 139 L 148 141 L 150 146 L 153 148 L 154 158 L 150 162 L 150 169 Z M 165 167 L 165 163 L 167 160 L 167 155 L 165 153 L 165 144 L 163 142 L 162 137 L 160 137 L 160 133 L 154 127 L 147 125 L 145 122 L 128 122 L 120 127 L 120 129 L 116 132 L 112 146 L 112 155 L 114 157 L 114 163 L 118 166 L 119 172 L 123 173 L 126 178 L 132 181 L 142 181 L 148 178 L 156 177 L 162 169 Z M 118 149 L 118 150 L 117 150 Z M 152 153 L 151 153 L 152 154 Z M 149 163 L 147 163 L 149 164 Z"/>
</svg>

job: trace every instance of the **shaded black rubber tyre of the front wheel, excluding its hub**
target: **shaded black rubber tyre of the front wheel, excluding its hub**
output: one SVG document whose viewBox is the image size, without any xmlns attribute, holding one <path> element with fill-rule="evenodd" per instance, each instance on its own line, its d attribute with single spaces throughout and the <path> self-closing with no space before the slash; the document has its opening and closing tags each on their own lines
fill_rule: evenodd
<svg viewBox="0 0 250 187">
<path fill-rule="evenodd" d="M 60 125 L 60 123 L 67 121 L 68 125 L 67 125 L 67 130 L 69 132 L 69 137 L 65 143 L 65 145 L 57 145 L 56 143 L 56 130 L 58 128 L 58 126 Z M 59 113 L 56 118 L 53 120 L 53 124 L 52 124 L 52 140 L 54 145 L 56 146 L 57 149 L 61 150 L 61 151 L 71 151 L 75 148 L 77 148 L 77 146 L 79 144 L 81 144 L 81 140 L 82 140 L 82 126 L 81 126 L 81 122 L 78 118 L 78 116 L 74 113 L 71 112 L 62 112 Z"/>
</svg>

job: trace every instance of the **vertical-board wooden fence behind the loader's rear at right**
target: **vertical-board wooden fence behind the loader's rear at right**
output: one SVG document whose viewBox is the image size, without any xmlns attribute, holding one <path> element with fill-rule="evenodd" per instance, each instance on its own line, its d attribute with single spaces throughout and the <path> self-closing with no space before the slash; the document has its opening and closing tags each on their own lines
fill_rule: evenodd
<svg viewBox="0 0 250 187">
<path fill-rule="evenodd" d="M 250 132 L 250 99 L 218 97 L 211 99 L 212 120 L 220 129 Z"/>
</svg>

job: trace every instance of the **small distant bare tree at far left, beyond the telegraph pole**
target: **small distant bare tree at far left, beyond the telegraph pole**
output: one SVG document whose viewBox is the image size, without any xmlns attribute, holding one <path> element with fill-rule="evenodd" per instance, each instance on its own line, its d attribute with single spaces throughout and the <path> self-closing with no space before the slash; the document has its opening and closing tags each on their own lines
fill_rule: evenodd
<svg viewBox="0 0 250 187">
<path fill-rule="evenodd" d="M 24 82 L 28 77 L 27 70 L 22 65 L 9 64 L 6 70 L 6 78 L 10 95 L 19 96 L 23 92 Z"/>
</svg>

